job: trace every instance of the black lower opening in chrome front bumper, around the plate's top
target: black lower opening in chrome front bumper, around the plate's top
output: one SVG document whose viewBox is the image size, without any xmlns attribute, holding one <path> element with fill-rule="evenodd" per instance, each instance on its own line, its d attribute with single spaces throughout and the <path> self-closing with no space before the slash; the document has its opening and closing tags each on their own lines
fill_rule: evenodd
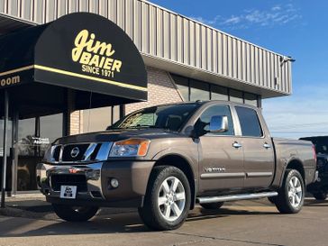
<svg viewBox="0 0 328 246">
<path fill-rule="evenodd" d="M 54 191 L 60 191 L 61 186 L 75 186 L 77 192 L 87 192 L 87 178 L 85 175 L 54 174 L 51 175 L 50 184 Z"/>
</svg>

